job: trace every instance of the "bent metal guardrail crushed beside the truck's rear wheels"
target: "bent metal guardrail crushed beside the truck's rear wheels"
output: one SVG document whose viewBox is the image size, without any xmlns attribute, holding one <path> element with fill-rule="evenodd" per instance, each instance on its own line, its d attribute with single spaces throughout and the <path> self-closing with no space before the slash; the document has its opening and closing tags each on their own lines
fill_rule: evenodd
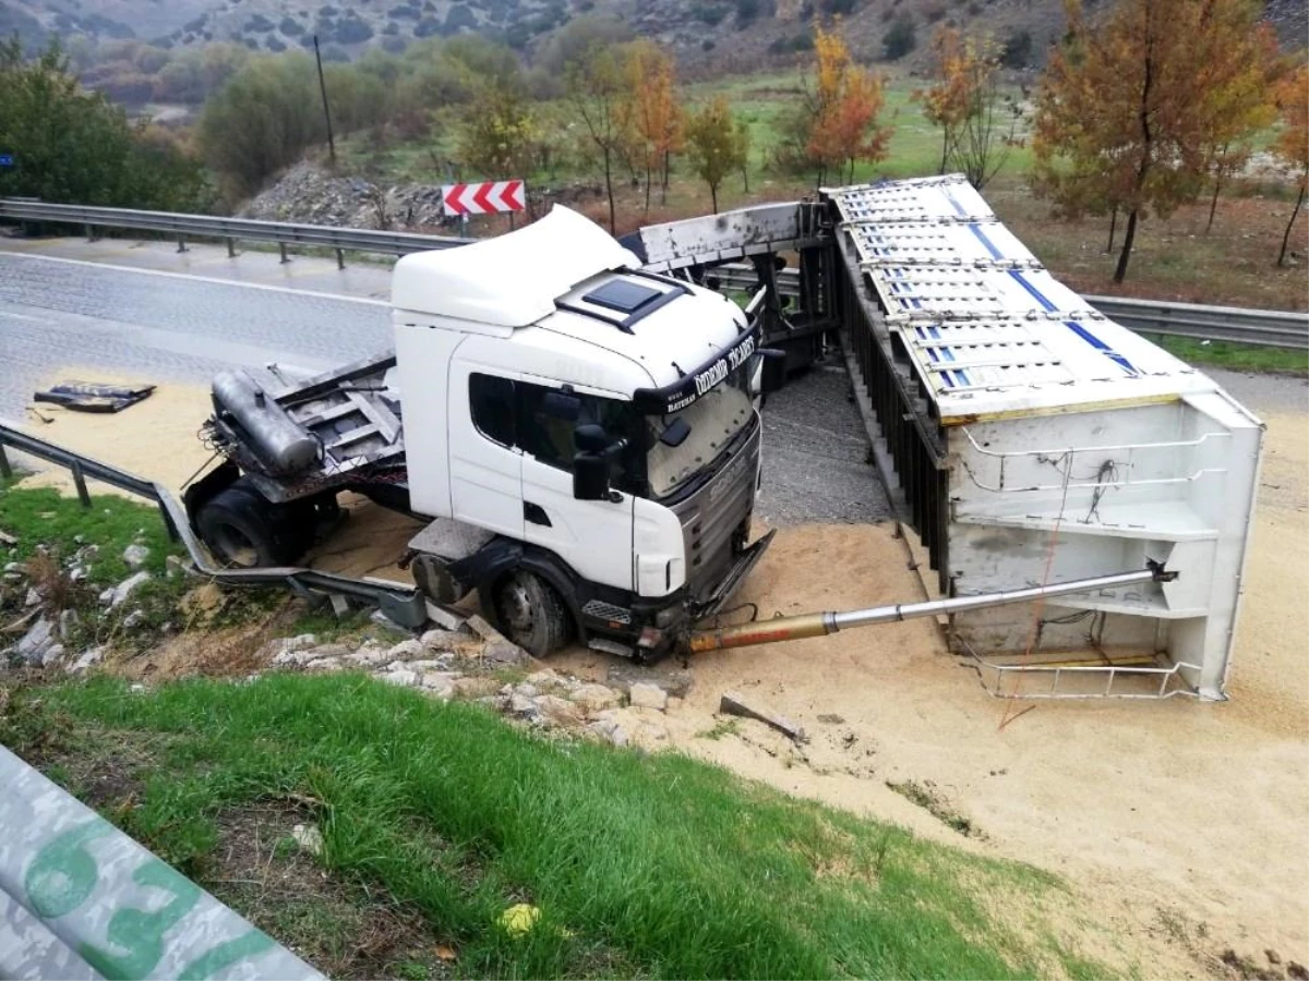
<svg viewBox="0 0 1309 981">
<path fill-rule="evenodd" d="M 13 447 L 48 463 L 55 463 L 72 471 L 77 496 L 90 506 L 86 493 L 86 479 L 99 480 L 110 487 L 127 490 L 158 505 L 164 523 L 174 540 L 181 540 L 191 556 L 195 568 L 207 578 L 229 586 L 287 586 L 304 596 L 346 596 L 376 606 L 387 617 L 402 627 L 419 628 L 428 620 L 428 604 L 416 589 L 402 583 L 381 579 L 355 579 L 348 576 L 300 569 L 295 566 L 268 566 L 259 569 L 223 569 L 216 566 L 204 545 L 191 530 L 186 510 L 173 493 L 162 484 L 139 477 L 109 463 L 101 463 L 62 446 L 27 436 L 17 429 L 0 425 L 0 477 L 12 476 L 12 466 L 5 456 L 5 447 Z"/>
</svg>

